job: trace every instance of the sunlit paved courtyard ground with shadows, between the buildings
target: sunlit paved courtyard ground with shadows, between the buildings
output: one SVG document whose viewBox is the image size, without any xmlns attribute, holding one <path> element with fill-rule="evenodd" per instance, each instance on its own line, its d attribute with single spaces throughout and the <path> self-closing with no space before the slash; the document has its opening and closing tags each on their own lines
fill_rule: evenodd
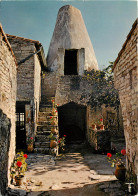
<svg viewBox="0 0 138 196">
<path fill-rule="evenodd" d="M 125 148 L 123 142 L 115 142 L 115 145 L 119 151 Z M 56 159 L 50 155 L 30 154 L 27 161 L 28 171 L 19 189 L 31 191 L 29 196 L 125 195 L 106 155 L 93 154 L 84 144 L 73 145 Z"/>
</svg>

